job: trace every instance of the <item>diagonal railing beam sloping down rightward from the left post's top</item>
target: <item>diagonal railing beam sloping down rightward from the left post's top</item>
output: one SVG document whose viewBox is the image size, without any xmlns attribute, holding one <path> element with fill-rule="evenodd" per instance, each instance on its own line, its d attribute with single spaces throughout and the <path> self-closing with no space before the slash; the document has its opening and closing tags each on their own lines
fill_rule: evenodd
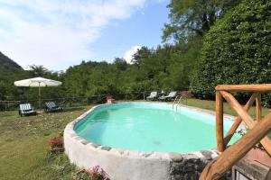
<svg viewBox="0 0 271 180">
<path fill-rule="evenodd" d="M 251 130 L 256 122 L 253 121 L 253 119 L 248 115 L 248 112 L 246 112 L 242 106 L 238 103 L 238 101 L 234 98 L 232 94 L 229 94 L 226 91 L 220 91 L 220 94 L 226 99 L 226 101 L 229 103 L 229 105 L 238 112 L 238 115 L 242 118 L 242 120 L 247 124 L 248 129 Z M 267 136 L 264 139 L 261 139 L 261 144 L 266 149 L 268 154 L 271 156 L 271 139 L 269 139 Z"/>
</svg>

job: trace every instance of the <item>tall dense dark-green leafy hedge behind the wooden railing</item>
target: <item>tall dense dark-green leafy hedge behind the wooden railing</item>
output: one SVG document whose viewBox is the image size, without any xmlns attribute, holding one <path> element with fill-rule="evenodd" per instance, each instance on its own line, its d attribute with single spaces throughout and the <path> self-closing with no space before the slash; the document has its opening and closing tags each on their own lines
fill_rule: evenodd
<svg viewBox="0 0 271 180">
<path fill-rule="evenodd" d="M 270 83 L 270 30 L 271 2 L 242 1 L 205 36 L 193 93 L 213 98 L 219 84 Z"/>
</svg>

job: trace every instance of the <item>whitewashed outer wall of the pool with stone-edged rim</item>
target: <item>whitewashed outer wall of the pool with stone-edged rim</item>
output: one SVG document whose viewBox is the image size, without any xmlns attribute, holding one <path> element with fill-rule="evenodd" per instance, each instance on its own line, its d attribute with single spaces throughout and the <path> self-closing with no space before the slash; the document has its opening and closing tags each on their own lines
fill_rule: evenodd
<svg viewBox="0 0 271 180">
<path fill-rule="evenodd" d="M 196 180 L 208 162 L 219 153 L 206 150 L 193 153 L 145 153 L 103 147 L 79 137 L 74 126 L 89 112 L 71 121 L 64 130 L 64 147 L 70 161 L 82 168 L 101 166 L 112 180 Z"/>
</svg>

